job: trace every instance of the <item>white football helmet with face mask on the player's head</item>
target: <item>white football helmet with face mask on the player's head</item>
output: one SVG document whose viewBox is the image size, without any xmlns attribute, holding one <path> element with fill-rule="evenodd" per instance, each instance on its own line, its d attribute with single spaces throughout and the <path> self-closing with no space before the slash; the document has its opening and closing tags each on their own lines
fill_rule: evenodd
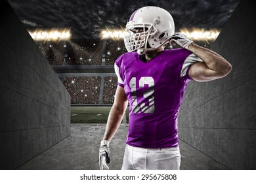
<svg viewBox="0 0 256 183">
<path fill-rule="evenodd" d="M 136 31 L 142 29 L 141 32 Z M 160 7 L 142 7 L 131 15 L 127 22 L 127 34 L 124 36 L 128 52 L 137 50 L 145 54 L 147 50 L 156 50 L 165 46 L 175 31 L 173 17 Z"/>
</svg>

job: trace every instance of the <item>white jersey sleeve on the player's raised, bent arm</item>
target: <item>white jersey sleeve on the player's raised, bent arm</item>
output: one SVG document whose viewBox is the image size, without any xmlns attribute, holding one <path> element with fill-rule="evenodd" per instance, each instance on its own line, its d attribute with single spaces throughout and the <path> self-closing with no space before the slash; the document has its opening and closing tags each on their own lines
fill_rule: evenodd
<svg viewBox="0 0 256 183">
<path fill-rule="evenodd" d="M 192 80 L 190 76 L 188 75 L 188 71 L 194 63 L 200 62 L 202 59 L 198 58 L 195 54 L 190 54 L 184 61 L 182 68 L 181 68 L 181 78 L 183 78 L 184 81 Z"/>
</svg>

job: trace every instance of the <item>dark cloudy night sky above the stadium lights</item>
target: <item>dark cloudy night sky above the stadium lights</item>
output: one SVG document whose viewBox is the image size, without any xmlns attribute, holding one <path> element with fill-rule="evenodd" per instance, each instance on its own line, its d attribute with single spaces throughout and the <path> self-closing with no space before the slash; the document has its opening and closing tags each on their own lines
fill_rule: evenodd
<svg viewBox="0 0 256 183">
<path fill-rule="evenodd" d="M 236 8 L 239 0 L 9 0 L 27 29 L 70 28 L 72 38 L 97 38 L 102 29 L 125 27 L 129 16 L 140 7 L 168 10 L 181 28 L 218 28 Z"/>
</svg>

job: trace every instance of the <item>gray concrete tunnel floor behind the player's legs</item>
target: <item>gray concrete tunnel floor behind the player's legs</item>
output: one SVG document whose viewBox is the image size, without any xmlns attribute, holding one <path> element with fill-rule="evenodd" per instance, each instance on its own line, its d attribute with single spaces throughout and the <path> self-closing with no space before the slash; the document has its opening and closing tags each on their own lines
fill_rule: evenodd
<svg viewBox="0 0 256 183">
<path fill-rule="evenodd" d="M 71 135 L 18 169 L 97 170 L 98 148 L 106 124 L 72 124 Z M 121 169 L 128 124 L 121 124 L 110 143 L 110 169 Z M 221 163 L 180 141 L 181 169 L 227 169 Z"/>
</svg>

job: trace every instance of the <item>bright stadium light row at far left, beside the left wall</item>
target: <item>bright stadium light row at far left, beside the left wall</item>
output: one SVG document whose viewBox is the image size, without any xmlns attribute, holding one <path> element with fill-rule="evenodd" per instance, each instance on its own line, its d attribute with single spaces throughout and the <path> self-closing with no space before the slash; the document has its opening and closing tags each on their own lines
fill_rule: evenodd
<svg viewBox="0 0 256 183">
<path fill-rule="evenodd" d="M 35 31 L 28 31 L 28 33 L 30 33 L 34 41 L 62 41 L 71 38 L 70 29 L 35 29 Z"/>
</svg>

